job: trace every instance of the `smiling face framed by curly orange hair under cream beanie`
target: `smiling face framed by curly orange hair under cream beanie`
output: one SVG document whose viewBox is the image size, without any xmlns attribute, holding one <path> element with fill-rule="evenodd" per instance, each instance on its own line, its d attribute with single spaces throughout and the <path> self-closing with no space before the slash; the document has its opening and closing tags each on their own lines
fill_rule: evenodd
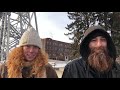
<svg viewBox="0 0 120 90">
<path fill-rule="evenodd" d="M 27 61 L 34 60 L 38 55 L 38 52 L 39 52 L 39 48 L 37 46 L 33 46 L 33 45 L 23 46 L 23 53 Z"/>
</svg>

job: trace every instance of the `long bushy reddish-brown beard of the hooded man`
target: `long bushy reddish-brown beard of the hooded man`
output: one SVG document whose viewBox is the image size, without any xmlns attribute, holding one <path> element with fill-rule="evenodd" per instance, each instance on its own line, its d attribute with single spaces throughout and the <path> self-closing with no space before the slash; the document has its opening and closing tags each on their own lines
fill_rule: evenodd
<svg viewBox="0 0 120 90">
<path fill-rule="evenodd" d="M 94 48 L 88 57 L 88 64 L 98 72 L 107 72 L 112 67 L 113 59 L 105 48 Z"/>
</svg>

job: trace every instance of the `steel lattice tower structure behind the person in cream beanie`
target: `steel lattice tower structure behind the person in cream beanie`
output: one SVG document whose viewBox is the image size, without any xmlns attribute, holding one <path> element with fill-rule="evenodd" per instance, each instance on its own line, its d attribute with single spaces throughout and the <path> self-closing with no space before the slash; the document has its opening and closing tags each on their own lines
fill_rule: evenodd
<svg viewBox="0 0 120 90">
<path fill-rule="evenodd" d="M 6 60 L 8 52 L 17 47 L 29 26 L 38 32 L 36 12 L 0 12 L 0 61 Z"/>
</svg>

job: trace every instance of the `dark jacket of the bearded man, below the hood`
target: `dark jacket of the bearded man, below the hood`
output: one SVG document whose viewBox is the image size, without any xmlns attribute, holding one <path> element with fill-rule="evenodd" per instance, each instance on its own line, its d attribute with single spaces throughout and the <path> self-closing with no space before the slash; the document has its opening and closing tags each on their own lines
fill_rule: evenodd
<svg viewBox="0 0 120 90">
<path fill-rule="evenodd" d="M 120 65 L 108 73 L 101 74 L 91 69 L 85 60 L 76 59 L 65 66 L 62 78 L 120 78 Z"/>
</svg>

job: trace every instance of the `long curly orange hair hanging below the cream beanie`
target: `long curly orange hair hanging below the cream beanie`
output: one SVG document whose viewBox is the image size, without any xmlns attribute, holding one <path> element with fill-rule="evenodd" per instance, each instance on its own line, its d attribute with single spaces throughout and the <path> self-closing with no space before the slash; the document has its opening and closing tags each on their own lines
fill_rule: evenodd
<svg viewBox="0 0 120 90">
<path fill-rule="evenodd" d="M 39 49 L 39 54 L 32 62 L 26 63 L 23 55 L 23 48 L 16 47 L 8 55 L 7 72 L 8 78 L 23 78 L 22 69 L 26 65 L 31 65 L 32 70 L 30 76 L 36 75 L 36 78 L 42 77 L 44 73 L 44 66 L 48 64 L 48 54 Z"/>
</svg>

